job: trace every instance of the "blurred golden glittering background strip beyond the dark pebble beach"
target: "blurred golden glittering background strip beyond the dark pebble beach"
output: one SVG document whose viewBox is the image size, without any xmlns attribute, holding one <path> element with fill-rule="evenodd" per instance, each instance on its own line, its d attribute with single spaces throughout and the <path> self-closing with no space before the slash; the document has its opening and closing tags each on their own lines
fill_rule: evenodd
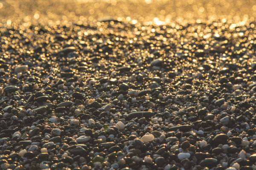
<svg viewBox="0 0 256 170">
<path fill-rule="evenodd" d="M 246 22 L 255 20 L 256 0 L 0 0 L 1 23 L 82 23 L 105 17 L 132 23 Z"/>
</svg>

